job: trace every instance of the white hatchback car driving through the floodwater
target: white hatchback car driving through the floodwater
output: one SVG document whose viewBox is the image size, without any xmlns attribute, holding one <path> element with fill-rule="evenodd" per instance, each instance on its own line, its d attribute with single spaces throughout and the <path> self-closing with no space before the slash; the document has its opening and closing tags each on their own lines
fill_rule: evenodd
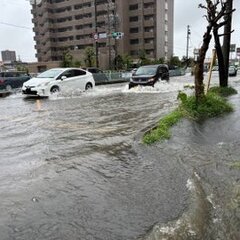
<svg viewBox="0 0 240 240">
<path fill-rule="evenodd" d="M 87 91 L 95 86 L 92 73 L 81 68 L 52 68 L 24 82 L 26 96 L 48 97 L 56 92 Z"/>
</svg>

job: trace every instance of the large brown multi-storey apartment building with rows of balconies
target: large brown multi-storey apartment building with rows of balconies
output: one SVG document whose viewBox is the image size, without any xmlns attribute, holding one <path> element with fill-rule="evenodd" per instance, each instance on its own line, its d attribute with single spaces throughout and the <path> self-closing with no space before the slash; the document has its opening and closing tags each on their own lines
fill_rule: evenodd
<svg viewBox="0 0 240 240">
<path fill-rule="evenodd" d="M 84 64 L 93 47 L 100 67 L 117 55 L 138 61 L 173 54 L 174 0 L 31 0 L 36 57 L 61 61 L 68 50 Z M 118 34 L 115 34 L 118 33 Z"/>
</svg>

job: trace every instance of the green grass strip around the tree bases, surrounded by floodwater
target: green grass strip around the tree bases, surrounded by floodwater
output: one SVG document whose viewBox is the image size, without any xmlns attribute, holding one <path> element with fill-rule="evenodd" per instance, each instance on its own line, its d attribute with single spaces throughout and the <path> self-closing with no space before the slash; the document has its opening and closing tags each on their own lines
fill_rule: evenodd
<svg viewBox="0 0 240 240">
<path fill-rule="evenodd" d="M 229 96 L 230 92 L 236 91 L 233 90 L 235 89 L 214 88 L 198 102 L 195 96 L 187 96 L 185 93 L 179 92 L 179 107 L 160 119 L 156 127 L 146 132 L 143 136 L 143 143 L 152 144 L 169 139 L 171 137 L 170 128 L 183 117 L 199 121 L 232 112 L 233 106 L 223 96 Z"/>
</svg>

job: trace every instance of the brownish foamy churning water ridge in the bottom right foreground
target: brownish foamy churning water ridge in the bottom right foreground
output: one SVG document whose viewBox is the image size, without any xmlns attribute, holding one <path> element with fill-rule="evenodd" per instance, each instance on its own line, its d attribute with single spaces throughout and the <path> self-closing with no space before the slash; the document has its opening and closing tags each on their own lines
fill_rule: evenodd
<svg viewBox="0 0 240 240">
<path fill-rule="evenodd" d="M 203 189 L 201 178 L 196 172 L 187 180 L 186 187 L 191 199 L 189 209 L 174 222 L 156 224 L 147 236 L 139 240 L 207 239 L 205 236 L 212 220 L 212 205 Z"/>
</svg>

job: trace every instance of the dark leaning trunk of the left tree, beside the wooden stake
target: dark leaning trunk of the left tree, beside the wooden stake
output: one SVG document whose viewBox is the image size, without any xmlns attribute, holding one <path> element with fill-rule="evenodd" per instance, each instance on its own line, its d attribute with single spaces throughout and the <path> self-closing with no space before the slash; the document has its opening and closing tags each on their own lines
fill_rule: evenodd
<svg viewBox="0 0 240 240">
<path fill-rule="evenodd" d="M 195 97 L 197 102 L 204 96 L 204 85 L 203 85 L 203 70 L 204 70 L 204 60 L 206 56 L 206 52 L 209 47 L 209 43 L 211 41 L 212 27 L 208 26 L 207 31 L 203 36 L 203 43 L 199 50 L 199 57 L 195 67 Z"/>
</svg>

